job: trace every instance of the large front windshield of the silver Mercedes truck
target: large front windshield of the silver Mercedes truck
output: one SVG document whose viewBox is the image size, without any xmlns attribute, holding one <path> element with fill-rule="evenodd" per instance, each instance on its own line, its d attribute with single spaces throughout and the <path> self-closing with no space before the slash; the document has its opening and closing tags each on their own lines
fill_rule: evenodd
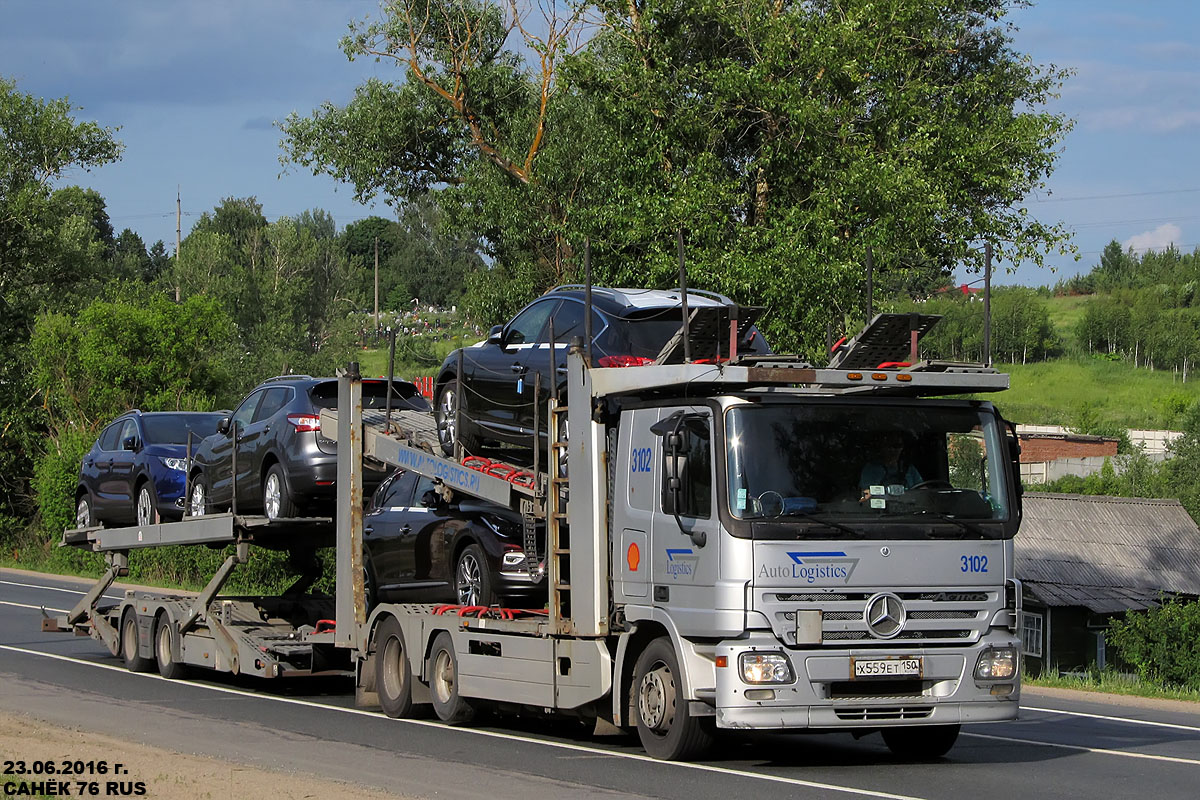
<svg viewBox="0 0 1200 800">
<path fill-rule="evenodd" d="M 739 519 L 1001 536 L 986 523 L 1009 518 L 1008 447 L 986 409 L 739 405 L 726 411 L 725 429 L 730 512 Z"/>
</svg>

